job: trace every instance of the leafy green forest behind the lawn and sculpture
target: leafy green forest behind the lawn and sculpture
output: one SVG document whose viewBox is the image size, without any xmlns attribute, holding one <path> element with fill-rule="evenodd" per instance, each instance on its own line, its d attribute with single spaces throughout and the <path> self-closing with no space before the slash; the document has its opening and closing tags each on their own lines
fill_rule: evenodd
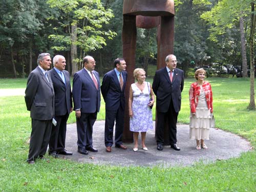
<svg viewBox="0 0 256 192">
<path fill-rule="evenodd" d="M 66 69 L 80 70 L 85 55 L 103 75 L 122 57 L 122 0 L 1 0 L 0 77 L 27 77 L 39 53 L 66 57 Z M 175 47 L 185 71 L 212 62 L 254 66 L 255 1 L 175 2 Z M 136 67 L 156 66 L 157 28 L 137 28 Z M 253 70 L 254 71 L 254 70 Z"/>
</svg>

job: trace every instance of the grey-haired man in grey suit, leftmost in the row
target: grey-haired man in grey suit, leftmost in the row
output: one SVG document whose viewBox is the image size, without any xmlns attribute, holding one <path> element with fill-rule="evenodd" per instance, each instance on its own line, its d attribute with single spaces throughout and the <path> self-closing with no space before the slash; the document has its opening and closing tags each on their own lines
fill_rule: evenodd
<svg viewBox="0 0 256 192">
<path fill-rule="evenodd" d="M 38 66 L 29 74 L 25 91 L 27 110 L 30 111 L 32 131 L 30 136 L 28 163 L 43 159 L 47 151 L 54 116 L 54 89 L 47 70 L 51 67 L 49 53 L 38 55 Z"/>
</svg>

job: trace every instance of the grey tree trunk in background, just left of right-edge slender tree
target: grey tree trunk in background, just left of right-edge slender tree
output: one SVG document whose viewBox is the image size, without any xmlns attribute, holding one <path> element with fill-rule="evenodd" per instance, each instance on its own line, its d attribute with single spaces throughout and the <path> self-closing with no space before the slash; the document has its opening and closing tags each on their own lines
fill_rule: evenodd
<svg viewBox="0 0 256 192">
<path fill-rule="evenodd" d="M 242 46 L 242 66 L 243 66 L 243 77 L 248 77 L 247 74 L 247 59 L 246 59 L 246 43 L 244 36 L 244 18 L 240 17 L 240 35 L 241 35 L 241 46 Z"/>
</svg>

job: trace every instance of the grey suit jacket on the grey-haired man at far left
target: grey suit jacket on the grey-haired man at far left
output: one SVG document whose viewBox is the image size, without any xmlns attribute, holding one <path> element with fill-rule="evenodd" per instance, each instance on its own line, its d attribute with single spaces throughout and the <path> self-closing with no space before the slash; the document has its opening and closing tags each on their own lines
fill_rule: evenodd
<svg viewBox="0 0 256 192">
<path fill-rule="evenodd" d="M 30 117 L 37 120 L 50 120 L 54 116 L 54 89 L 51 76 L 48 82 L 37 66 L 28 77 L 25 102 Z"/>
</svg>

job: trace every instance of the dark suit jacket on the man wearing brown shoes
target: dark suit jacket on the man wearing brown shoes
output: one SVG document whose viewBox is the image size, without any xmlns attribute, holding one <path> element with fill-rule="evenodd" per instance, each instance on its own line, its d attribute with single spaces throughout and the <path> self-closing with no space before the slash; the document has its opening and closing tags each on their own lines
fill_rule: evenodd
<svg viewBox="0 0 256 192">
<path fill-rule="evenodd" d="M 122 71 L 123 88 L 121 90 L 118 77 L 115 70 L 111 70 L 103 76 L 101 94 L 105 101 L 105 109 L 108 111 L 116 111 L 119 106 L 124 110 L 125 99 L 124 90 L 127 80 L 127 72 Z"/>
</svg>

